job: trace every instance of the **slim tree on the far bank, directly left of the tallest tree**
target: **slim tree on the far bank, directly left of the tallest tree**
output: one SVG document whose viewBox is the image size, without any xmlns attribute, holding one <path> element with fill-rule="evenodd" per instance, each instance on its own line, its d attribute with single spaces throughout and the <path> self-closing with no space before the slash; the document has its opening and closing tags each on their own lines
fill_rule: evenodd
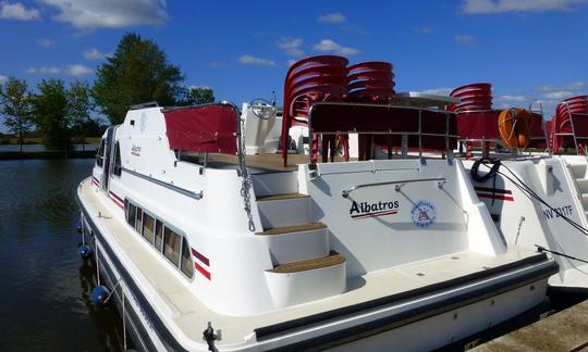
<svg viewBox="0 0 588 352">
<path fill-rule="evenodd" d="M 90 117 L 90 114 L 95 109 L 95 103 L 90 96 L 89 85 L 79 80 L 71 83 L 66 98 L 66 120 L 70 123 L 73 136 L 81 139 L 82 148 L 84 148 L 84 143 L 86 142 L 85 138 L 88 136 L 88 131 L 90 129 L 96 130 L 97 125 Z"/>
</svg>

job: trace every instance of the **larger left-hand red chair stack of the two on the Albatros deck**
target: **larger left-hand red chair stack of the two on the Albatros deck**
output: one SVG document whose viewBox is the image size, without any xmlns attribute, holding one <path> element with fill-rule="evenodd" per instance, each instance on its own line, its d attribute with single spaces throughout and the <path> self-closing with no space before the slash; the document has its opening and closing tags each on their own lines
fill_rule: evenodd
<svg viewBox="0 0 588 352">
<path fill-rule="evenodd" d="M 342 56 L 319 55 L 303 59 L 287 71 L 284 81 L 282 118 L 282 158 L 287 166 L 287 137 L 290 127 L 308 125 L 308 112 L 320 101 L 342 101 L 347 95 L 348 61 Z M 334 144 L 334 142 L 333 142 Z M 311 136 L 313 161 L 318 158 L 318 139 Z M 345 154 L 348 154 L 346 151 Z M 327 155 L 323 153 L 323 161 Z"/>
</svg>

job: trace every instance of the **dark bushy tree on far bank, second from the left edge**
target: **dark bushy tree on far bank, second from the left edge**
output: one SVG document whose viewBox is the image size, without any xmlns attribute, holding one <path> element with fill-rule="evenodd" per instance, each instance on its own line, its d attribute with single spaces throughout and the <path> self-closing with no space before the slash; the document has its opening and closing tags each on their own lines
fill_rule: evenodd
<svg viewBox="0 0 588 352">
<path fill-rule="evenodd" d="M 68 150 L 70 120 L 68 91 L 61 79 L 42 79 L 33 100 L 35 123 L 42 134 L 42 143 L 49 150 Z"/>
</svg>

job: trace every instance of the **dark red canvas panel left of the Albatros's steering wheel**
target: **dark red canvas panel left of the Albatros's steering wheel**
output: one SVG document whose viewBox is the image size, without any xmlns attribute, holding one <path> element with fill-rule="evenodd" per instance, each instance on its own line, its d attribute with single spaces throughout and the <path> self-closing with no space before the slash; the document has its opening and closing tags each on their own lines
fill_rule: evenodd
<svg viewBox="0 0 588 352">
<path fill-rule="evenodd" d="M 170 149 L 236 154 L 236 121 L 232 105 L 210 104 L 163 111 Z"/>
</svg>

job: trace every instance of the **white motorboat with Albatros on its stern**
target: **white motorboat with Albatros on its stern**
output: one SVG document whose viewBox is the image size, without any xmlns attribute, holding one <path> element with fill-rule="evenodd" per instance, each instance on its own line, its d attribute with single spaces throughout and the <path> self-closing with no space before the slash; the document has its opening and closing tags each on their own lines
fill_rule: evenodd
<svg viewBox="0 0 588 352">
<path fill-rule="evenodd" d="M 378 134 L 401 118 L 419 143 L 448 141 L 431 116 L 448 118 L 318 103 L 309 130 Z M 206 351 L 210 322 L 222 351 L 430 350 L 546 299 L 556 263 L 504 241 L 451 153 L 282 167 L 246 155 L 248 133 L 218 103 L 139 106 L 105 134 L 77 199 L 137 349 Z"/>
</svg>

